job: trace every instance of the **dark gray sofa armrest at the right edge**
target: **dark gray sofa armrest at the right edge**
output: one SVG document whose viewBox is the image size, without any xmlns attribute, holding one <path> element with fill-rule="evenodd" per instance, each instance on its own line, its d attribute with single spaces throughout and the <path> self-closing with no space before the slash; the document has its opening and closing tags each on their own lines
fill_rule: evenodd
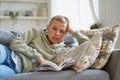
<svg viewBox="0 0 120 80">
<path fill-rule="evenodd" d="M 103 68 L 110 75 L 110 80 L 120 80 L 120 49 L 115 49 L 108 63 Z"/>
</svg>

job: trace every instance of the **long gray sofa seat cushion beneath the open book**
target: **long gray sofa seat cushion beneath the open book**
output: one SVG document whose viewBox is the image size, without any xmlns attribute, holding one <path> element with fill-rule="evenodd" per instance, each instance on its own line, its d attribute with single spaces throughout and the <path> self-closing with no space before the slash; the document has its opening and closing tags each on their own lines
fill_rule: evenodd
<svg viewBox="0 0 120 80">
<path fill-rule="evenodd" d="M 31 72 L 9 76 L 0 80 L 110 80 L 109 74 L 102 70 L 86 70 L 76 73 L 73 70 L 60 72 Z"/>
</svg>

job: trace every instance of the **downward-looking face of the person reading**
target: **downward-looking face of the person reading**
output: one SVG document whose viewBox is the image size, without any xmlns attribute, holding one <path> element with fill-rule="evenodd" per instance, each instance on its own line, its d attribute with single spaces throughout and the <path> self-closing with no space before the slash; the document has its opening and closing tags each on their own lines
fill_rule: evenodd
<svg viewBox="0 0 120 80">
<path fill-rule="evenodd" d="M 50 25 L 47 26 L 48 29 L 48 39 L 51 44 L 56 44 L 61 42 L 66 34 L 67 24 L 61 23 L 57 20 L 53 20 Z"/>
</svg>

